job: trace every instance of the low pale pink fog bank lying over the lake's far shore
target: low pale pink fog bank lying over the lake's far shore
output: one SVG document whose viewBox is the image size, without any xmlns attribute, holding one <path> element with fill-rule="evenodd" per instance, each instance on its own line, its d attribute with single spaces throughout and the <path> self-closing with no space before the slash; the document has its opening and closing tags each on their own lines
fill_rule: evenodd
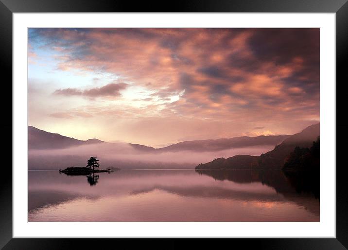
<svg viewBox="0 0 348 250">
<path fill-rule="evenodd" d="M 260 155 L 273 150 L 274 145 L 236 148 L 213 152 L 144 152 L 126 144 L 100 143 L 61 150 L 29 150 L 29 169 L 61 169 L 86 166 L 87 159 L 95 156 L 100 168 L 194 168 L 214 158 L 228 158 L 237 154 Z"/>
</svg>

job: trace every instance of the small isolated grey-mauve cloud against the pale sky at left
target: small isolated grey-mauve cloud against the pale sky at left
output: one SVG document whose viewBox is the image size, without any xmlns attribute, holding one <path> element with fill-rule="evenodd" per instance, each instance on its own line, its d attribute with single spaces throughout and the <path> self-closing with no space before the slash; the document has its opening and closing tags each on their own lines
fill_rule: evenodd
<svg viewBox="0 0 348 250">
<path fill-rule="evenodd" d="M 54 95 L 63 96 L 85 96 L 90 98 L 96 97 L 118 97 L 121 96 L 120 91 L 125 89 L 128 84 L 126 83 L 110 83 L 103 87 L 96 87 L 90 89 L 76 89 L 76 88 L 65 88 L 57 89 L 53 92 Z"/>
</svg>

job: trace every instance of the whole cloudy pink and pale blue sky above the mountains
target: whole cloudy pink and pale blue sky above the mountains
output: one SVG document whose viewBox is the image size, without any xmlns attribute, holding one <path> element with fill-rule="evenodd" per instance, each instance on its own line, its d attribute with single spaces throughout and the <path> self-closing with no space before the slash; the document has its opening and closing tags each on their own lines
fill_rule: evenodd
<svg viewBox="0 0 348 250">
<path fill-rule="evenodd" d="M 319 122 L 319 29 L 29 29 L 28 124 L 163 147 Z"/>
</svg>

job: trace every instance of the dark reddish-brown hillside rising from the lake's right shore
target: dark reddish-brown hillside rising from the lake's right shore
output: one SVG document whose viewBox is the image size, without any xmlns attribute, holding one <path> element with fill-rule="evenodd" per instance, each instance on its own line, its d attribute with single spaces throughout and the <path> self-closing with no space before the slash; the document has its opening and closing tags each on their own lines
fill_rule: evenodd
<svg viewBox="0 0 348 250">
<path fill-rule="evenodd" d="M 320 134 L 320 124 L 314 124 L 300 133 L 286 138 L 274 150 L 259 156 L 235 155 L 230 158 L 218 158 L 211 162 L 200 164 L 196 169 L 228 169 L 228 168 L 281 168 L 287 157 L 296 147 L 310 148 Z"/>
</svg>

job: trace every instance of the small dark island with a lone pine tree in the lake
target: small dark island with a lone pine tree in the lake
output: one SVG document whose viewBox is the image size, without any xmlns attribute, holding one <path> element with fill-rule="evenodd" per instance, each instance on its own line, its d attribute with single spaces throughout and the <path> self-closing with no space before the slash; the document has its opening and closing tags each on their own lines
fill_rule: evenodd
<svg viewBox="0 0 348 250">
<path fill-rule="evenodd" d="M 120 170 L 120 168 L 108 167 L 107 169 L 94 169 L 99 167 L 97 157 L 90 157 L 87 161 L 86 167 L 67 167 L 64 170 L 59 170 L 60 173 L 65 173 L 67 175 L 88 175 L 91 173 L 101 173 L 101 172 L 113 172 L 114 170 Z"/>
</svg>

